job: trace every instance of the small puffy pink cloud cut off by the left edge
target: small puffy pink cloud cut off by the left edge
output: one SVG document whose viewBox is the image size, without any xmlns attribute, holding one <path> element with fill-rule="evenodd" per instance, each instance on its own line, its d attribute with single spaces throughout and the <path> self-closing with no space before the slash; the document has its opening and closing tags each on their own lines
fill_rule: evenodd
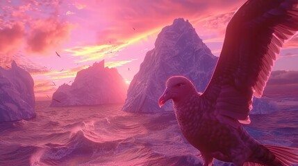
<svg viewBox="0 0 298 166">
<path fill-rule="evenodd" d="M 20 23 L 0 30 L 0 53 L 15 51 L 23 43 L 24 26 Z"/>
</svg>

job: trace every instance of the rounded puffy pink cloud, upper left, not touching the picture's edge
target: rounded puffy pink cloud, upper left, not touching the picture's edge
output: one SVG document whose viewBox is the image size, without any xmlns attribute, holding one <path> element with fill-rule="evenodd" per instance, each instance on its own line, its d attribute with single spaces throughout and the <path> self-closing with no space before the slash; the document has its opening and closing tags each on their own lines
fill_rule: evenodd
<svg viewBox="0 0 298 166">
<path fill-rule="evenodd" d="M 47 53 L 69 38 L 71 24 L 56 19 L 38 20 L 28 34 L 27 51 L 29 53 Z"/>
</svg>

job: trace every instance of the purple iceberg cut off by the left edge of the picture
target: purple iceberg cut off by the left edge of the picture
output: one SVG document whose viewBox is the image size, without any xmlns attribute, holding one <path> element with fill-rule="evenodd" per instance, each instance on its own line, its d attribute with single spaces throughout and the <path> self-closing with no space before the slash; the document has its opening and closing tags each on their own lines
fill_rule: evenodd
<svg viewBox="0 0 298 166">
<path fill-rule="evenodd" d="M 11 68 L 0 66 L 0 122 L 35 117 L 33 78 L 12 62 Z"/>
</svg>

